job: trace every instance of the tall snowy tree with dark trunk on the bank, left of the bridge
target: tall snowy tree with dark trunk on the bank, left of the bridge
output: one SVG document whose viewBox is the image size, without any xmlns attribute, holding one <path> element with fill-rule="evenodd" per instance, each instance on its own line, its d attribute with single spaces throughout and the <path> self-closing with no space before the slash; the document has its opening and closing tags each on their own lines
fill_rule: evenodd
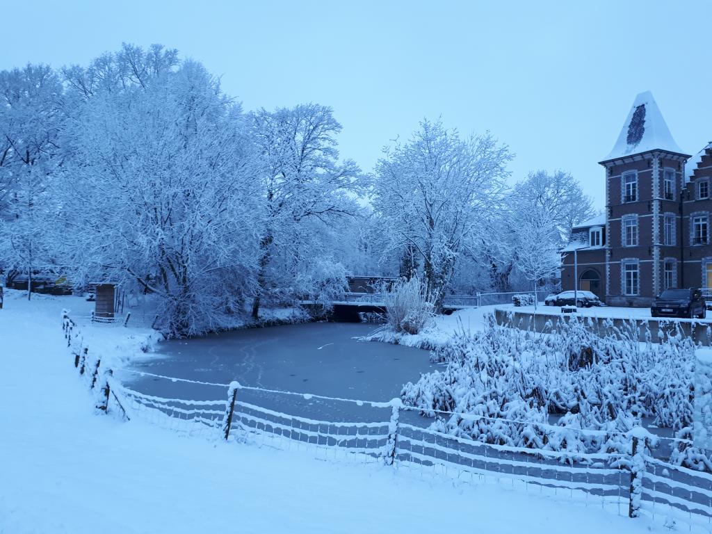
<svg viewBox="0 0 712 534">
<path fill-rule="evenodd" d="M 272 269 L 276 248 L 283 262 L 300 263 L 299 256 L 308 253 L 303 246 L 309 244 L 303 229 L 316 229 L 317 223 L 330 226 L 335 218 L 354 214 L 347 194 L 360 190 L 360 170 L 350 160 L 338 161 L 336 135 L 341 125 L 331 108 L 305 104 L 260 110 L 251 120 L 262 162 L 256 176 L 263 203 L 256 221 L 261 235 L 252 305 L 252 316 L 258 318 L 278 274 Z"/>
</svg>

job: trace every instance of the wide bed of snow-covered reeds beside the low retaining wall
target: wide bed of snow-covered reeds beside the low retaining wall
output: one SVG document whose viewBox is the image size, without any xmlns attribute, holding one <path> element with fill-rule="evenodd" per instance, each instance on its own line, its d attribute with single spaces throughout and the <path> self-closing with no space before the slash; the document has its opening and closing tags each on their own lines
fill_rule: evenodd
<svg viewBox="0 0 712 534">
<path fill-rule="evenodd" d="M 615 328 L 607 321 L 602 335 L 576 318 L 544 335 L 487 323 L 436 349 L 431 360 L 445 369 L 402 390 L 404 404 L 437 417 L 439 431 L 491 444 L 625 454 L 623 434 L 642 417 L 674 429 L 691 424 L 689 338 L 642 343 L 634 322 Z M 550 414 L 560 419 L 550 424 Z"/>
</svg>

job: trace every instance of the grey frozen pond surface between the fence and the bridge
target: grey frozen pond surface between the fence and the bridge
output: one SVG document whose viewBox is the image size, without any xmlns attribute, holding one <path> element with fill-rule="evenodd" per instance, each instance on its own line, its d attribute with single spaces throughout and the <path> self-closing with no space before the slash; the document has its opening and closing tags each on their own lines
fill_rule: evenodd
<svg viewBox="0 0 712 534">
<path fill-rule="evenodd" d="M 286 392 L 385 402 L 398 397 L 403 384 L 440 365 L 429 362 L 426 350 L 353 337 L 372 333 L 378 325 L 307 323 L 236 330 L 159 344 L 155 357 L 135 370 L 202 382 L 243 385 Z M 226 388 L 171 382 L 128 373 L 123 382 L 159 397 L 222 399 Z M 345 402 L 240 391 L 244 402 L 302 417 L 372 420 L 373 409 Z M 377 412 L 385 411 L 377 409 Z M 378 419 L 387 414 L 378 414 Z"/>
</svg>

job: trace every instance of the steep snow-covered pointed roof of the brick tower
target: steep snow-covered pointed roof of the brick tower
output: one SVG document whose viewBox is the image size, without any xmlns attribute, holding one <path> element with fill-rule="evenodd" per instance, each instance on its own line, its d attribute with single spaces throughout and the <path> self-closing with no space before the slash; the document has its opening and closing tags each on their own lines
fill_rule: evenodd
<svg viewBox="0 0 712 534">
<path fill-rule="evenodd" d="M 618 140 L 604 161 L 649 150 L 684 154 L 672 138 L 652 93 L 646 91 L 635 98 Z"/>
</svg>

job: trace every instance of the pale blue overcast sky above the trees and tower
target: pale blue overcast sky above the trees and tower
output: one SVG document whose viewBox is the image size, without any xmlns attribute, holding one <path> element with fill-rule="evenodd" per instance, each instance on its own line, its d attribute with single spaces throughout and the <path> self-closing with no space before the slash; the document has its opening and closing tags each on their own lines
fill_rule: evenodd
<svg viewBox="0 0 712 534">
<path fill-rule="evenodd" d="M 246 110 L 333 106 L 343 157 L 370 171 L 422 117 L 491 130 L 531 169 L 570 170 L 604 203 L 603 170 L 651 90 L 683 150 L 712 140 L 708 2 L 33 2 L 3 9 L 0 69 L 88 63 L 122 41 L 178 48 Z"/>
</svg>

